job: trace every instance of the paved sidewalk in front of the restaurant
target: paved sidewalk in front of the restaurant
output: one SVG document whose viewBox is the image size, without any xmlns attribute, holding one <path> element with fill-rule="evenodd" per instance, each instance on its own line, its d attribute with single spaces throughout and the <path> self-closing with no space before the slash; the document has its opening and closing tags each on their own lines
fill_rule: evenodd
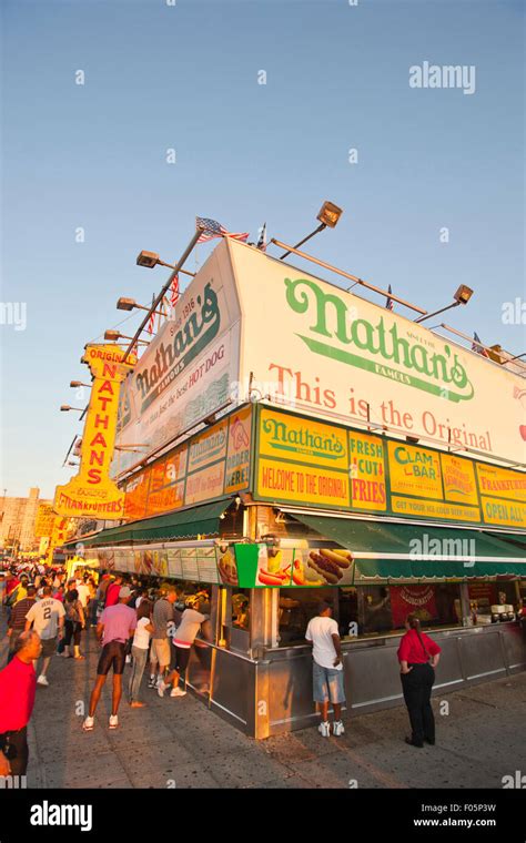
<svg viewBox="0 0 526 843">
<path fill-rule="evenodd" d="M 6 664 L 2 618 L 0 667 Z M 111 677 L 93 732 L 81 724 L 93 685 L 99 647 L 83 632 L 85 661 L 53 658 L 49 688 L 37 688 L 29 728 L 30 788 L 497 788 L 526 773 L 526 673 L 433 700 L 437 745 L 415 749 L 405 707 L 344 720 L 345 734 L 315 728 L 255 741 L 221 720 L 190 692 L 161 699 L 146 688 L 144 709 L 125 694 L 120 727 L 109 731 Z M 88 650 L 88 652 L 87 652 Z M 127 688 L 127 667 L 123 687 Z M 441 702 L 448 713 L 441 714 Z"/>
</svg>

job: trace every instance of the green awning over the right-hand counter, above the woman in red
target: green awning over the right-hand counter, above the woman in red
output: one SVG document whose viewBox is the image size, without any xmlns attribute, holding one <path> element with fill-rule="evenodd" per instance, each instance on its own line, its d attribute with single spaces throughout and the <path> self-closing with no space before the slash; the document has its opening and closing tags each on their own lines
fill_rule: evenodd
<svg viewBox="0 0 526 843">
<path fill-rule="evenodd" d="M 525 537 L 513 541 L 476 529 L 365 521 L 287 510 L 321 536 L 351 550 L 355 570 L 378 579 L 526 577 Z"/>
</svg>

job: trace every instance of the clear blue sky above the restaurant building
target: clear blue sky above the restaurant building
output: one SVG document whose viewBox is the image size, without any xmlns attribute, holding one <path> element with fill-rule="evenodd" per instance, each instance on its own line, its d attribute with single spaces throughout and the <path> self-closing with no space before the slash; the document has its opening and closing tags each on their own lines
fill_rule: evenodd
<svg viewBox="0 0 526 843">
<path fill-rule="evenodd" d="M 195 214 L 295 242 L 331 199 L 345 214 L 314 254 L 428 309 L 468 284 L 448 322 L 525 351 L 500 316 L 525 295 L 520 0 L 1 8 L 2 301 L 27 303 L 28 327 L 0 327 L 0 494 L 69 478 L 80 428 L 59 406 L 79 404 L 83 345 L 125 315 L 120 295 L 151 301 L 166 271 L 138 252 L 175 260 Z M 475 93 L 411 89 L 425 60 L 475 65 Z"/>
</svg>

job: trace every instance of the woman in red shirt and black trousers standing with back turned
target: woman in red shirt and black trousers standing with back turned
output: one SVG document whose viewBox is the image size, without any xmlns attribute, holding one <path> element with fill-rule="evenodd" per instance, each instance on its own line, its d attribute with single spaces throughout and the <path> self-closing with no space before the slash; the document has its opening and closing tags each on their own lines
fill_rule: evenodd
<svg viewBox="0 0 526 843">
<path fill-rule="evenodd" d="M 404 700 L 409 714 L 413 734 L 405 742 L 412 746 L 435 743 L 435 718 L 431 707 L 431 691 L 435 682 L 441 648 L 421 631 L 416 615 L 405 621 L 407 632 L 398 647 L 399 672 Z"/>
</svg>

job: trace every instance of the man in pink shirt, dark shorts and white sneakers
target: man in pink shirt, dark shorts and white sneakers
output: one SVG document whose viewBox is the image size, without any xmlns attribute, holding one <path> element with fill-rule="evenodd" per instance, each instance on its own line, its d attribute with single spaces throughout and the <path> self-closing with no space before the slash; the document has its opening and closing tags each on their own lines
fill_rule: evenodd
<svg viewBox="0 0 526 843">
<path fill-rule="evenodd" d="M 136 628 L 135 611 L 127 606 L 130 596 L 128 586 L 122 586 L 119 591 L 119 602 L 104 609 L 97 624 L 97 637 L 99 640 L 102 639 L 102 652 L 97 667 L 97 681 L 90 698 L 89 714 L 82 724 L 84 732 L 91 732 L 93 729 L 97 705 L 110 668 L 113 669 L 110 729 L 117 729 L 119 725 L 118 711 L 122 697 L 127 642 L 133 637 Z"/>
</svg>

